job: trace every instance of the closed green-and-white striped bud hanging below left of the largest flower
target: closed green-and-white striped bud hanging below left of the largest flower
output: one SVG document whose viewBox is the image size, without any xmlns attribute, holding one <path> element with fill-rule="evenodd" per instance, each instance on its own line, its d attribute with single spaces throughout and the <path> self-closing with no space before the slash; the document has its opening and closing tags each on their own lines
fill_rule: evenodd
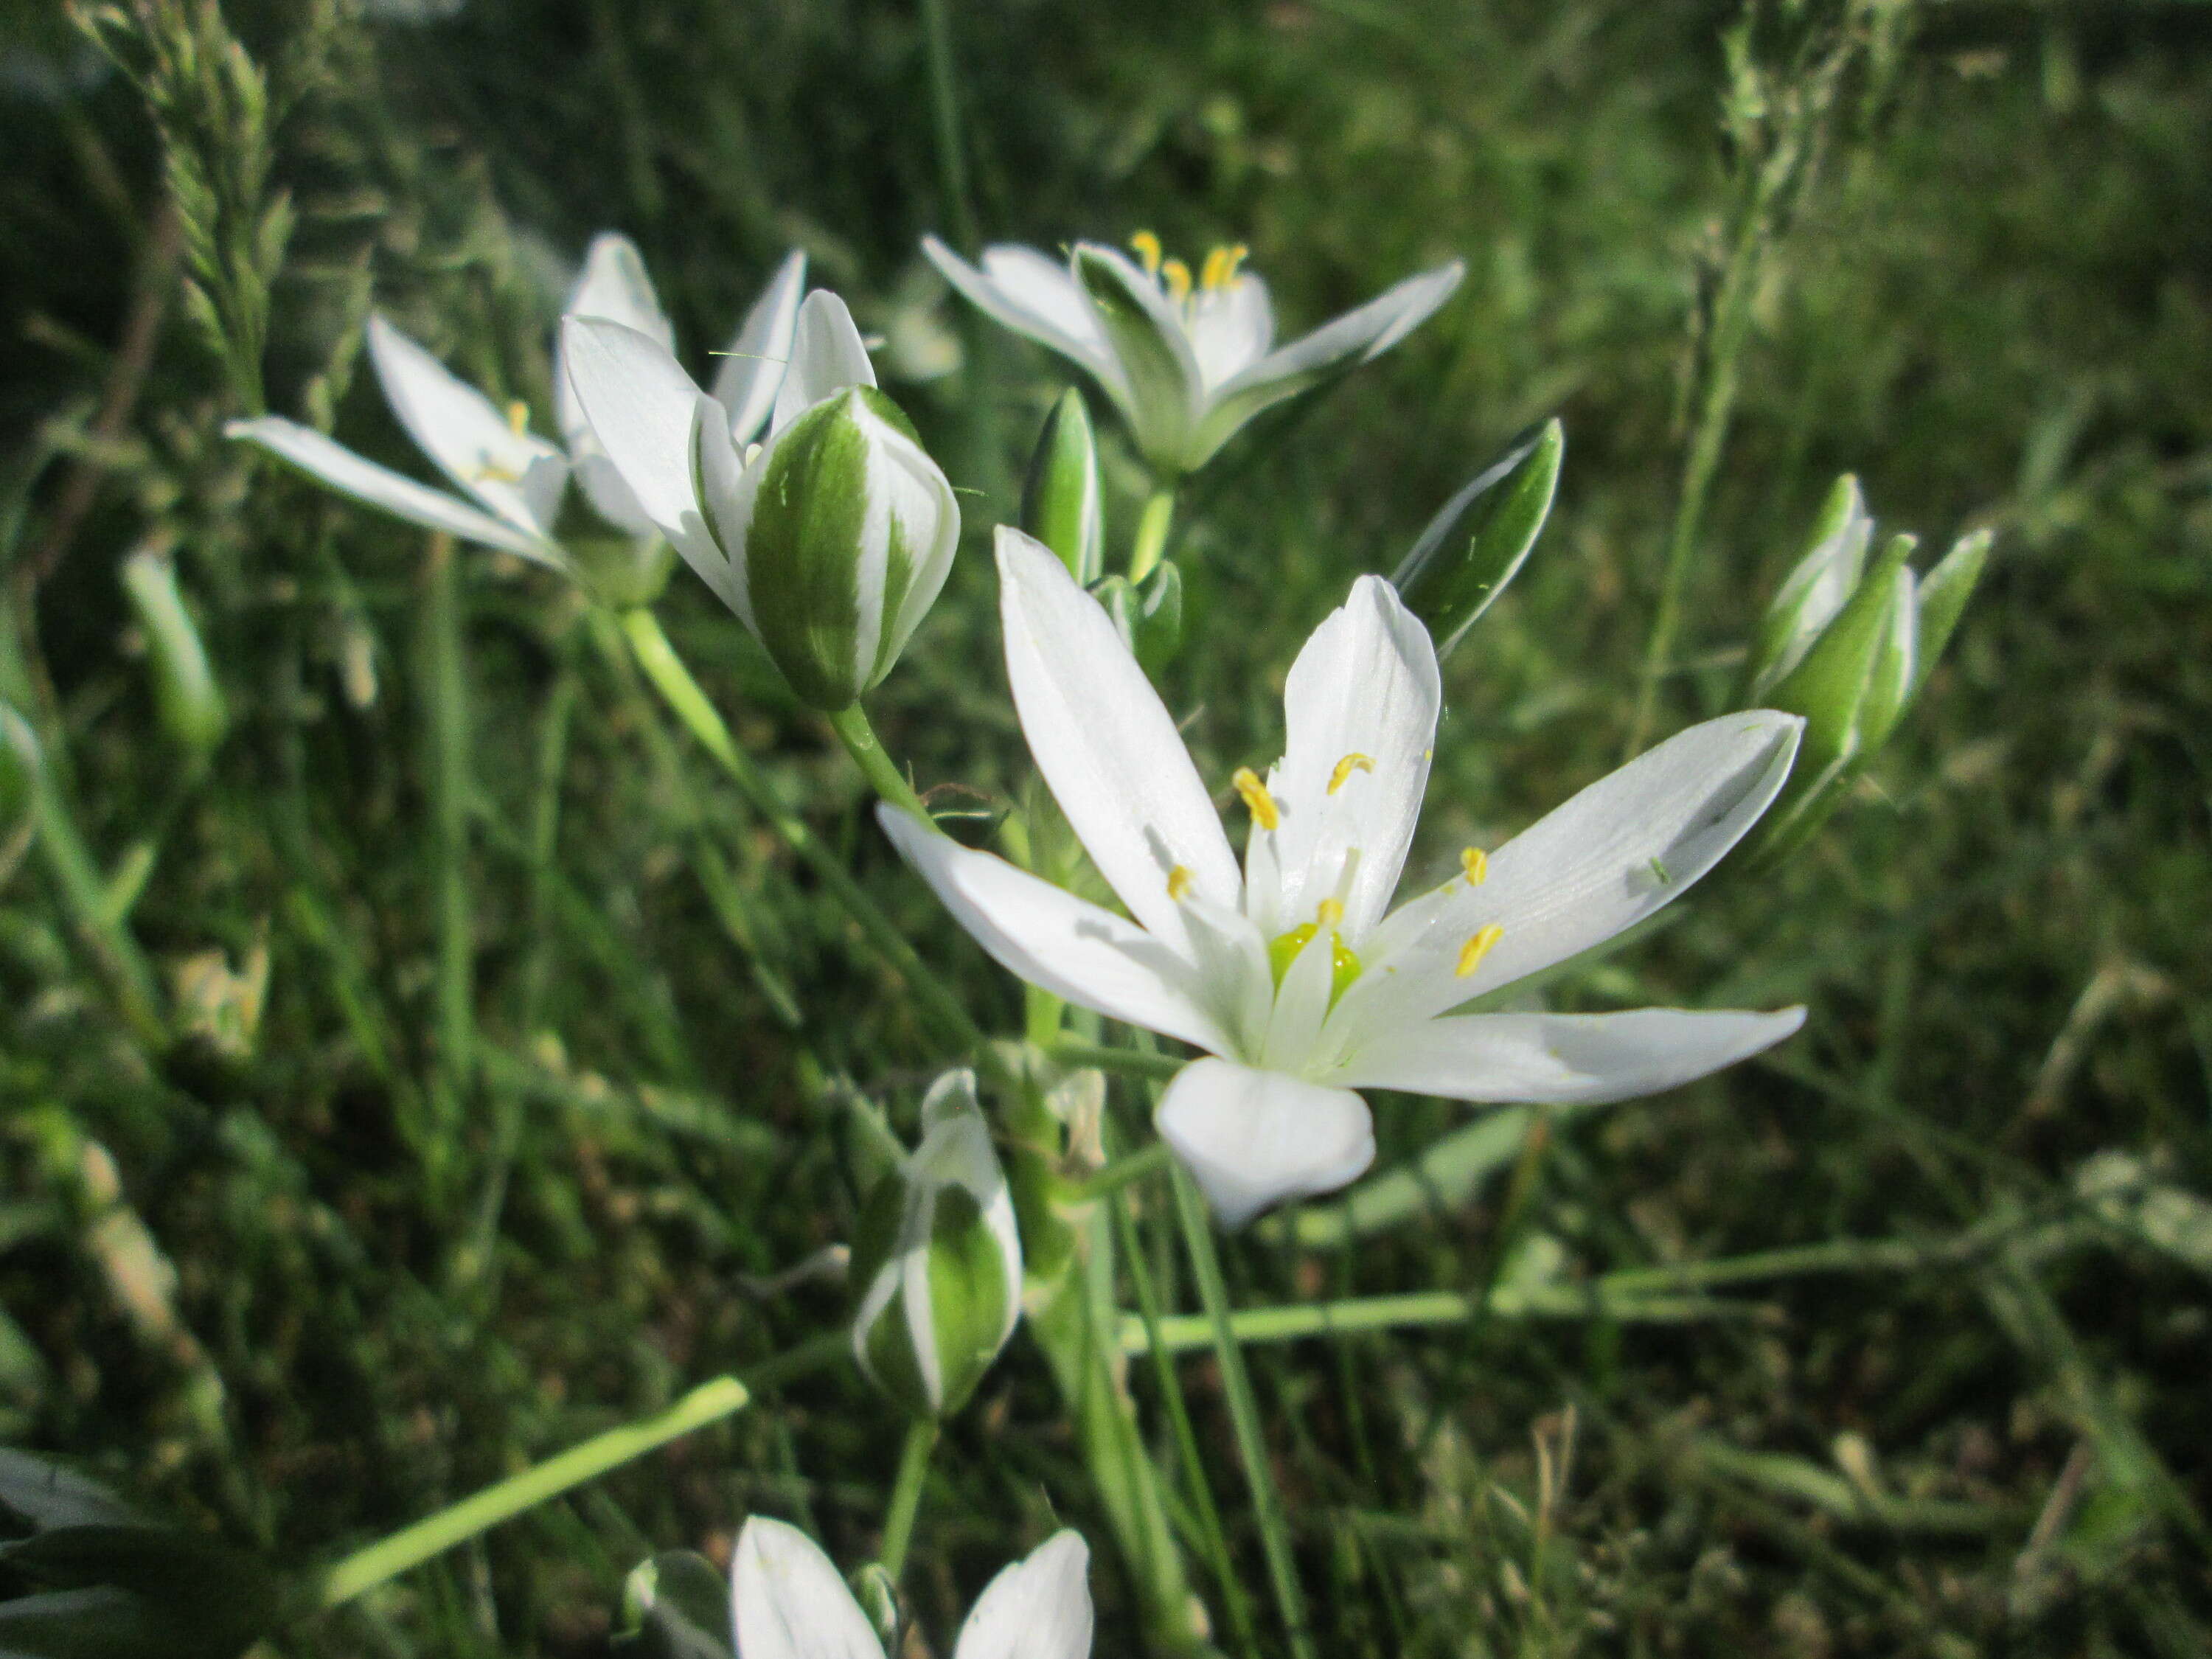
<svg viewBox="0 0 2212 1659">
<path fill-rule="evenodd" d="M 958 1411 L 1022 1314 L 1022 1237 L 975 1073 L 938 1077 L 922 1144 L 869 1194 L 852 1252 L 852 1352 L 907 1411 Z"/>
</svg>

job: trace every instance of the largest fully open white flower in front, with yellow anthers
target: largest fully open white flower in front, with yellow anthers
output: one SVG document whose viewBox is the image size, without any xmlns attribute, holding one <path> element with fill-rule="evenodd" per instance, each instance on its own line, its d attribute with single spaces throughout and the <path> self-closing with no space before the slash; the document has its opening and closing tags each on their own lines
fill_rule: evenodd
<svg viewBox="0 0 2212 1659">
<path fill-rule="evenodd" d="M 1783 1013 L 1451 1009 L 1599 945 L 1688 889 L 1752 827 L 1803 721 L 1692 726 L 1493 854 L 1389 909 L 1413 841 L 1440 686 L 1380 577 L 1314 630 L 1285 688 L 1243 872 L 1113 622 L 1066 566 L 998 533 L 1006 675 L 1037 770 L 1130 918 L 880 810 L 891 841 L 1009 971 L 1203 1048 L 1155 1124 L 1230 1225 L 1329 1192 L 1374 1157 L 1356 1088 L 1467 1102 L 1650 1095 L 1781 1042 Z M 1387 914 L 1385 914 L 1387 911 Z"/>
</svg>

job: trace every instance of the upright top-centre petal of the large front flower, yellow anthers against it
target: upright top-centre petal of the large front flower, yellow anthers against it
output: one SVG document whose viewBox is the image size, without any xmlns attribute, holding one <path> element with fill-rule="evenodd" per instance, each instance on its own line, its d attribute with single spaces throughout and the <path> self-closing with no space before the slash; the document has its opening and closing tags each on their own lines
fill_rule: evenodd
<svg viewBox="0 0 2212 1659">
<path fill-rule="evenodd" d="M 1245 909 L 1261 933 L 1312 922 L 1336 900 L 1360 947 L 1413 845 L 1440 703 L 1429 630 L 1389 582 L 1363 575 L 1283 690 L 1287 745 L 1267 776 L 1281 827 L 1254 823 L 1245 852 Z"/>
</svg>

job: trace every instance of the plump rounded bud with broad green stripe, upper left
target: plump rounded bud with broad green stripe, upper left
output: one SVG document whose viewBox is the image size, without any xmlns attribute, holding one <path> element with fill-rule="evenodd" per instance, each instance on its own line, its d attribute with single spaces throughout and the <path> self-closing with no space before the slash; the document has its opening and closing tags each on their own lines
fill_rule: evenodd
<svg viewBox="0 0 2212 1659">
<path fill-rule="evenodd" d="M 754 635 L 801 701 L 852 708 L 891 672 L 951 571 L 960 504 L 945 473 L 872 385 L 796 416 L 732 489 L 701 471 Z"/>
</svg>

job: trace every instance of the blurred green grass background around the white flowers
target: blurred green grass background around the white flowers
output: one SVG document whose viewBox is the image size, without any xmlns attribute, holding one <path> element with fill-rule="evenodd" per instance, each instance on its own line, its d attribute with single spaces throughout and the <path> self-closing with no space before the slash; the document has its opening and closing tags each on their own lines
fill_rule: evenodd
<svg viewBox="0 0 2212 1659">
<path fill-rule="evenodd" d="M 1995 526 L 1995 564 L 1809 849 L 1723 872 L 1555 995 L 1803 1000 L 1807 1031 L 1562 1121 L 1358 1250 L 1263 1230 L 1230 1272 L 1261 1303 L 1887 1254 L 1677 1329 L 1254 1349 L 1318 1639 L 2205 1650 L 2212 9 L 1754 7 L 1732 71 L 1736 4 L 947 0 L 951 155 L 905 0 L 367 11 L 226 7 L 281 104 L 241 199 L 294 215 L 268 405 L 420 476 L 354 372 L 372 301 L 546 429 L 549 327 L 595 230 L 641 243 L 695 367 L 805 248 L 978 491 L 876 723 L 982 807 L 1026 787 L 987 529 L 1062 378 L 942 294 L 922 232 L 967 212 L 1042 248 L 1243 241 L 1292 332 L 1467 259 L 1442 316 L 1197 480 L 1190 641 L 1164 675 L 1208 776 L 1274 754 L 1281 677 L 1347 582 L 1562 416 L 1551 526 L 1447 670 L 1436 863 L 1621 754 L 1750 223 L 1734 418 L 1655 730 L 1725 706 L 1838 471 L 1936 551 Z M 465 551 L 465 650 L 440 659 L 425 538 L 221 440 L 248 394 L 179 301 L 144 100 L 58 7 L 7 15 L 0 695 L 192 1035 L 133 1024 L 113 947 L 0 801 L 0 1431 L 299 1566 L 836 1321 L 834 1285 L 752 1281 L 849 1237 L 854 1091 L 911 1126 L 942 1053 L 593 648 L 575 588 Z M 1761 146 L 1792 133 L 1787 190 L 1747 221 Z M 1141 478 L 1113 462 L 1119 546 Z M 139 546 L 175 553 L 230 708 L 206 768 L 157 721 L 117 586 Z M 787 799 L 1018 1029 L 1011 980 L 896 865 L 739 624 L 681 571 L 659 611 Z M 425 1128 L 440 1110 L 456 1133 Z M 1462 1115 L 1380 1102 L 1383 1161 Z M 1150 1422 L 1141 1367 L 1135 1387 Z M 1210 1367 L 1186 1387 L 1225 1444 Z M 1568 1409 L 1546 1486 L 1535 1444 L 1555 1471 Z M 637 1557 L 723 1548 L 752 1509 L 865 1559 L 896 1444 L 856 1378 L 807 1385 L 281 1650 L 599 1652 Z M 1256 1584 L 1225 1460 L 1219 1493 Z M 925 1628 L 949 1637 L 1051 1517 L 1097 1548 L 1099 1650 L 1130 1648 L 1124 1568 L 1018 1338 L 938 1460 Z"/>
</svg>

